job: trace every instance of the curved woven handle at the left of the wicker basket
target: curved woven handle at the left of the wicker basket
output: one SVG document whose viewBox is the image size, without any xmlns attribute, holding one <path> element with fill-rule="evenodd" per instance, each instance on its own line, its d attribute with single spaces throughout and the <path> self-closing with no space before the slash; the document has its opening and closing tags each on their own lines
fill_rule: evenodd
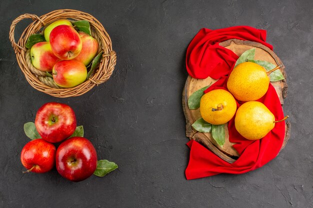
<svg viewBox="0 0 313 208">
<path fill-rule="evenodd" d="M 24 50 L 24 51 L 27 50 L 26 48 L 21 47 L 20 45 L 18 45 L 18 44 L 15 42 L 15 39 L 14 39 L 14 30 L 15 30 L 15 26 L 16 26 L 16 24 L 17 24 L 20 20 L 22 20 L 22 19 L 32 19 L 33 21 L 39 20 L 39 21 L 41 21 L 41 23 L 42 23 L 43 25 L 45 25 L 45 23 L 42 21 L 42 19 L 40 19 L 40 18 L 39 18 L 37 15 L 35 15 L 35 14 L 28 14 L 28 13 L 25 13 L 25 14 L 22 14 L 22 15 L 18 16 L 16 19 L 14 19 L 14 20 L 12 21 L 11 26 L 10 26 L 9 39 L 10 39 L 10 41 L 11 41 L 11 43 L 12 43 L 12 47 L 13 47 L 15 53 L 20 53 L 20 50 Z"/>
</svg>

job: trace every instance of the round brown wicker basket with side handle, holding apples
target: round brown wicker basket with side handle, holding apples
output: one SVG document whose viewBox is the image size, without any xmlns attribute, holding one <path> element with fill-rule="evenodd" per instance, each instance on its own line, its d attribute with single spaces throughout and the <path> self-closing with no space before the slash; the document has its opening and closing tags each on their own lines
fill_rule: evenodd
<svg viewBox="0 0 313 208">
<path fill-rule="evenodd" d="M 14 40 L 14 29 L 16 24 L 25 18 L 31 18 L 33 22 L 29 24 L 21 34 L 18 42 Z M 58 87 L 50 77 L 44 72 L 35 69 L 30 62 L 29 49 L 25 48 L 26 41 L 31 34 L 42 32 L 44 26 L 57 19 L 87 20 L 90 23 L 92 36 L 98 41 L 98 52 L 103 51 L 103 58 L 97 69 L 88 80 L 72 88 Z M 88 92 L 95 85 L 105 82 L 112 74 L 116 63 L 116 54 L 112 50 L 112 43 L 109 35 L 102 24 L 88 13 L 72 10 L 54 10 L 40 17 L 34 14 L 22 14 L 13 20 L 10 26 L 9 39 L 16 54 L 17 63 L 24 73 L 28 83 L 41 92 L 54 97 L 74 97 Z"/>
</svg>

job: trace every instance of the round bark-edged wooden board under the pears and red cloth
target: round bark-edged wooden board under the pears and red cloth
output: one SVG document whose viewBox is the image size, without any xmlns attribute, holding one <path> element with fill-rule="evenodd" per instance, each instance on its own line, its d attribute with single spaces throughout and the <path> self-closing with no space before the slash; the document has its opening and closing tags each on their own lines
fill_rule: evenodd
<svg viewBox="0 0 313 208">
<path fill-rule="evenodd" d="M 280 71 L 282 72 L 284 78 L 286 79 L 284 65 L 282 64 L 281 60 L 277 57 L 277 55 L 268 47 L 257 42 L 238 39 L 226 40 L 224 42 L 220 42 L 219 45 L 232 50 L 238 56 L 240 56 L 244 51 L 254 47 L 255 48 L 254 59 L 268 61 L 275 65 L 280 64 L 281 65 Z M 287 95 L 287 84 L 285 79 L 276 82 L 271 82 L 271 84 L 274 86 L 277 92 L 281 105 L 283 105 L 283 99 Z M 201 118 L 201 115 L 199 108 L 195 110 L 189 110 L 188 108 L 189 96 L 196 90 L 205 87 L 210 83 L 213 84 L 215 81 L 217 80 L 212 79 L 210 77 L 206 79 L 194 79 L 188 76 L 182 93 L 182 107 L 186 118 L 186 136 L 189 137 L 189 139 L 193 139 L 201 143 L 203 146 L 211 150 L 221 159 L 227 161 L 228 163 L 233 163 L 239 157 L 239 154 L 232 147 L 234 143 L 229 142 L 227 125 L 225 125 L 225 144 L 223 145 L 222 148 L 212 138 L 211 133 L 201 133 L 194 130 L 191 127 L 191 125 L 197 119 Z M 289 137 L 290 137 L 290 122 L 286 122 L 285 137 L 281 149 L 285 146 Z"/>
</svg>

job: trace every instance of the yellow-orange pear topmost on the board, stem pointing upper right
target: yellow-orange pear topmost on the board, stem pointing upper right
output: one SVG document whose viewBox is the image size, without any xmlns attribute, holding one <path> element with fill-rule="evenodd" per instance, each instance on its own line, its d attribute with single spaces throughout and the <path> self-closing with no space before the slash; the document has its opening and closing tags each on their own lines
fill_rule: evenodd
<svg viewBox="0 0 313 208">
<path fill-rule="evenodd" d="M 278 68 L 280 68 L 280 66 L 267 72 L 264 67 L 256 63 L 240 63 L 229 74 L 227 88 L 237 100 L 257 100 L 261 98 L 268 89 L 268 75 Z"/>
</svg>

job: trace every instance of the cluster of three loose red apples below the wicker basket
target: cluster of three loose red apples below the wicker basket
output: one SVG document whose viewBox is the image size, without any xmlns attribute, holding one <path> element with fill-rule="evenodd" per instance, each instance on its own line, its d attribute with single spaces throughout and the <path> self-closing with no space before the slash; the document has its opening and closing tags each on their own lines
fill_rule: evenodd
<svg viewBox="0 0 313 208">
<path fill-rule="evenodd" d="M 44 104 L 36 113 L 35 128 L 41 138 L 28 142 L 20 154 L 27 173 L 45 173 L 55 165 L 62 177 L 74 182 L 94 173 L 97 155 L 93 145 L 86 138 L 71 137 L 76 129 L 76 117 L 70 106 L 56 102 Z M 52 143 L 59 142 L 56 149 Z"/>
</svg>

